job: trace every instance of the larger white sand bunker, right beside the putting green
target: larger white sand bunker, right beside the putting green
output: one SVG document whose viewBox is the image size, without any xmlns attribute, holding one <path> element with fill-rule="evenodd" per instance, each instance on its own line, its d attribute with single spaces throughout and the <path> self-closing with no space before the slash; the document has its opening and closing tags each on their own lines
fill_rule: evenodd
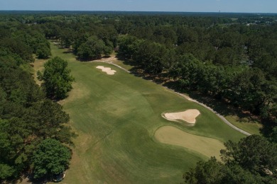
<svg viewBox="0 0 277 184">
<path fill-rule="evenodd" d="M 166 120 L 170 120 L 170 121 L 183 120 L 190 124 L 195 124 L 196 117 L 198 115 L 200 115 L 199 110 L 189 109 L 189 110 L 185 110 L 185 111 L 178 112 L 178 113 L 165 113 L 165 114 L 163 114 L 163 117 L 165 117 Z"/>
</svg>

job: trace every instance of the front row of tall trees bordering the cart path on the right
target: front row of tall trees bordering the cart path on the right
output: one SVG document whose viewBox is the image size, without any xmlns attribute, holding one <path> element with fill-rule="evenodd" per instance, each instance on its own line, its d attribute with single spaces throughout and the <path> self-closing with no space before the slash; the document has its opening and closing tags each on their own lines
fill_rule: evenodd
<svg viewBox="0 0 277 184">
<path fill-rule="evenodd" d="M 276 79 L 258 67 L 203 62 L 191 53 L 178 54 L 165 45 L 129 35 L 119 39 L 118 54 L 133 60 L 147 74 L 165 72 L 175 81 L 175 88 L 200 91 L 276 122 Z"/>
</svg>

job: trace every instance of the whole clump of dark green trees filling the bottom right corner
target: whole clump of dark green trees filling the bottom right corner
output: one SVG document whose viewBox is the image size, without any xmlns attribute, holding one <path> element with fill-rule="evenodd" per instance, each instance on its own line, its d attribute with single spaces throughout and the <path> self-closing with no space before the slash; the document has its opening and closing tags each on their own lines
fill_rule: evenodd
<svg viewBox="0 0 277 184">
<path fill-rule="evenodd" d="M 185 173 L 187 183 L 276 183 L 277 146 L 264 137 L 251 135 L 239 143 L 226 142 L 223 163 L 211 158 Z"/>
</svg>

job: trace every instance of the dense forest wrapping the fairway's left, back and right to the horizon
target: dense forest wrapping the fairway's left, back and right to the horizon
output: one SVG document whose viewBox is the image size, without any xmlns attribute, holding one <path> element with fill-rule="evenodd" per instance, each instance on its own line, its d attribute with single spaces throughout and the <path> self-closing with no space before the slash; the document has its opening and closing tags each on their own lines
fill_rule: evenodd
<svg viewBox="0 0 277 184">
<path fill-rule="evenodd" d="M 264 136 L 273 142 L 268 144 L 277 142 L 276 15 L 5 12 L 0 16 L 0 179 L 36 171 L 34 150 L 45 139 L 72 144 L 74 134 L 64 124 L 69 117 L 55 103 L 71 88 L 63 96 L 53 94 L 28 71 L 33 54 L 50 56 L 47 39 L 72 49 L 81 61 L 115 51 L 136 72 L 163 78 L 175 90 L 247 110 L 261 118 Z"/>
</svg>

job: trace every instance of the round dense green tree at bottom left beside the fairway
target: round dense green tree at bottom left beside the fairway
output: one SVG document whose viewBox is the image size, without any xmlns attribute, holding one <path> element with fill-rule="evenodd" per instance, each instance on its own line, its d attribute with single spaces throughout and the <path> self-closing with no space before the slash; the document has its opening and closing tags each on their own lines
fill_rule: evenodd
<svg viewBox="0 0 277 184">
<path fill-rule="evenodd" d="M 70 159 L 70 149 L 55 139 L 45 139 L 33 154 L 33 177 L 59 174 L 68 168 Z"/>
</svg>

